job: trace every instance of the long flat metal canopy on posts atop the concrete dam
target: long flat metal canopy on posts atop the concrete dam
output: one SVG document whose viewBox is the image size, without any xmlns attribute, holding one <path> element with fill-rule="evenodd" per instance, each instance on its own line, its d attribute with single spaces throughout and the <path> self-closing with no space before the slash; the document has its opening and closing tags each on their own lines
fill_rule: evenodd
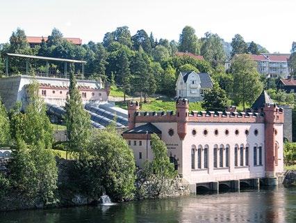
<svg viewBox="0 0 296 223">
<path fill-rule="evenodd" d="M 49 61 L 57 61 L 57 62 L 64 62 L 65 63 L 65 70 L 64 73 L 67 75 L 67 63 L 81 63 L 81 71 L 82 74 L 84 75 L 84 65 L 86 61 L 78 61 L 78 60 L 72 60 L 72 59 L 61 59 L 61 58 L 54 58 L 54 57 L 47 57 L 47 56 L 33 56 L 33 55 L 25 55 L 25 54 L 6 54 L 6 76 L 9 75 L 8 72 L 8 65 L 9 65 L 9 57 L 20 57 L 26 59 L 26 74 L 28 75 L 28 59 L 37 59 L 37 60 L 42 60 L 46 61 L 46 66 L 47 66 L 47 75 L 49 73 Z"/>
</svg>

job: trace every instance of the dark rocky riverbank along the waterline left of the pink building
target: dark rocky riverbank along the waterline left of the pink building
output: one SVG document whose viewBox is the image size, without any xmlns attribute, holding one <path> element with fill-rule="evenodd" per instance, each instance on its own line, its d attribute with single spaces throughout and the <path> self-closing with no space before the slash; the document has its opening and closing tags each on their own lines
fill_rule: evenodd
<svg viewBox="0 0 296 223">
<path fill-rule="evenodd" d="M 72 171 L 74 171 L 75 160 L 65 160 L 60 157 L 56 157 L 56 164 L 58 167 L 58 190 L 56 190 L 56 203 L 51 203 L 49 206 L 42 203 L 38 199 L 30 199 L 28 194 L 17 193 L 14 190 L 4 194 L 0 197 L 0 211 L 8 210 L 24 210 L 24 209 L 38 209 L 38 208 L 65 208 L 74 206 L 88 206 L 99 203 L 100 197 L 90 197 L 87 193 L 82 192 L 77 188 L 75 178 L 73 178 Z M 138 173 L 137 173 L 138 175 Z M 138 175 L 139 176 L 139 175 Z M 145 184 L 135 181 L 135 197 L 134 200 L 150 199 L 151 186 L 153 182 Z M 146 185 L 149 185 L 147 187 Z M 178 197 L 182 195 L 190 194 L 188 185 L 183 182 L 182 178 L 174 178 L 173 180 L 167 180 L 166 187 L 158 198 L 164 197 Z"/>
</svg>

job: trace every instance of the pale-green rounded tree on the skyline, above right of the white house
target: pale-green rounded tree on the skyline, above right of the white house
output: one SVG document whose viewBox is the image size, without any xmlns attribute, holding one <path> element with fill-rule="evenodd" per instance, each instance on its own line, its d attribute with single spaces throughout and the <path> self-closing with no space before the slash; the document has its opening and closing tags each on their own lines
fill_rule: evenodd
<svg viewBox="0 0 296 223">
<path fill-rule="evenodd" d="M 218 64 L 224 64 L 226 59 L 221 38 L 213 33 L 205 33 L 200 53 L 206 61 L 211 63 L 213 68 L 217 67 Z"/>
</svg>

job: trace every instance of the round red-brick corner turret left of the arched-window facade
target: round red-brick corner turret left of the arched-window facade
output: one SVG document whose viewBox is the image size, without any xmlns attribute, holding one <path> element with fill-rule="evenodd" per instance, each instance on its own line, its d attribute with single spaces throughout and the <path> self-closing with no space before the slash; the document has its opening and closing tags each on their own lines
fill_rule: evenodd
<svg viewBox="0 0 296 223">
<path fill-rule="evenodd" d="M 178 98 L 176 100 L 176 121 L 177 133 L 179 138 L 183 140 L 187 133 L 187 122 L 189 116 L 189 105 L 186 98 Z"/>
</svg>

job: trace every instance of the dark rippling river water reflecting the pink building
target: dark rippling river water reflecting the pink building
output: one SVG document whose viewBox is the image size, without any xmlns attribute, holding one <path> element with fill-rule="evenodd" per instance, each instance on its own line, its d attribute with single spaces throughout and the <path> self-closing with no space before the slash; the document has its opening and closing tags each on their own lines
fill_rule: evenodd
<svg viewBox="0 0 296 223">
<path fill-rule="evenodd" d="M 1 223 L 296 222 L 296 188 L 241 190 L 170 199 L 0 213 Z"/>
</svg>

